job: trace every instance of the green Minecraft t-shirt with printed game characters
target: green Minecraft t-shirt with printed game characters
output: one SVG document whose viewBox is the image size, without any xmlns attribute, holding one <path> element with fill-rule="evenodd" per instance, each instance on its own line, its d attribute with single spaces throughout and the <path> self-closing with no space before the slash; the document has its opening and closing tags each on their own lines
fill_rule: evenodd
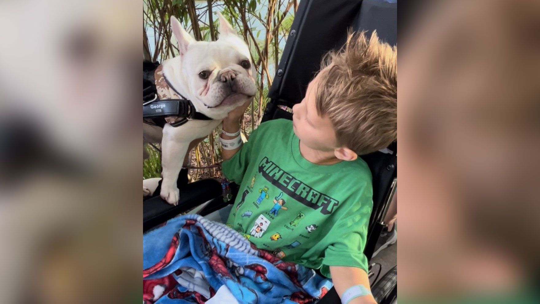
<svg viewBox="0 0 540 304">
<path fill-rule="evenodd" d="M 259 125 L 223 162 L 240 191 L 227 225 L 257 246 L 309 268 L 368 270 L 363 254 L 372 210 L 372 177 L 360 158 L 321 166 L 302 157 L 292 121 Z"/>
</svg>

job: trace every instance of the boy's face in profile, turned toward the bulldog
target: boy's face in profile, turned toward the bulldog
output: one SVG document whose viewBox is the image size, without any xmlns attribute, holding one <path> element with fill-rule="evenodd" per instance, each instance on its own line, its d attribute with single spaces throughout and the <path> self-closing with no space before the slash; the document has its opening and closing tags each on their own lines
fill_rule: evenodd
<svg viewBox="0 0 540 304">
<path fill-rule="evenodd" d="M 320 73 L 309 83 L 306 97 L 293 106 L 294 134 L 307 147 L 330 152 L 338 146 L 334 127 L 328 116 L 321 117 L 315 106 L 315 92 Z"/>
</svg>

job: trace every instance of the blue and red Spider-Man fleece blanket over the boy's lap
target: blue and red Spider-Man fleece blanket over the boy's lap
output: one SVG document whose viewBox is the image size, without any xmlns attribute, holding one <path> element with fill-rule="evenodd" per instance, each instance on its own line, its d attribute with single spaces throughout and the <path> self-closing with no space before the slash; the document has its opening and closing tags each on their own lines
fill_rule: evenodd
<svg viewBox="0 0 540 304">
<path fill-rule="evenodd" d="M 144 303 L 314 303 L 332 281 L 196 214 L 143 236 Z"/>
</svg>

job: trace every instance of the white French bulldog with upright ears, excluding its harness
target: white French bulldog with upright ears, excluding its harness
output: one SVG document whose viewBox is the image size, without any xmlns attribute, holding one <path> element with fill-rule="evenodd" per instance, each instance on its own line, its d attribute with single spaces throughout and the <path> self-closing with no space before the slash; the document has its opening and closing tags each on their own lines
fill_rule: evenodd
<svg viewBox="0 0 540 304">
<path fill-rule="evenodd" d="M 190 142 L 208 136 L 231 110 L 255 95 L 255 69 L 248 46 L 219 13 L 218 18 L 219 39 L 206 42 L 195 41 L 171 17 L 180 55 L 161 64 L 163 75 L 198 112 L 212 120 L 190 120 L 176 128 L 165 124 L 160 196 L 170 204 L 178 203 L 177 179 Z"/>
</svg>

